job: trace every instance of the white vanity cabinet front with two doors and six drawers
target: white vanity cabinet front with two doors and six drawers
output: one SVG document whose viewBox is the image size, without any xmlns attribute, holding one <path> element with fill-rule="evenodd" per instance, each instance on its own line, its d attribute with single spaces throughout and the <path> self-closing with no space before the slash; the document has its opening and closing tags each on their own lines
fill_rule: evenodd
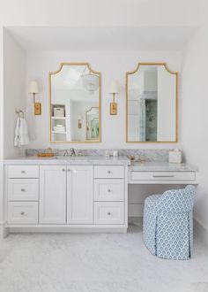
<svg viewBox="0 0 208 292">
<path fill-rule="evenodd" d="M 8 165 L 8 227 L 126 232 L 125 170 L 123 165 Z"/>
</svg>

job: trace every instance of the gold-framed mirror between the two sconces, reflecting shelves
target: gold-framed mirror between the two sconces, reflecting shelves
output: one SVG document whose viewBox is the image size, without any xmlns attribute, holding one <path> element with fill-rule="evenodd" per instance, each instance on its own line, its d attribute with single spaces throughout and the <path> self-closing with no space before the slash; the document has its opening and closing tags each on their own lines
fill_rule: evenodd
<svg viewBox="0 0 208 292">
<path fill-rule="evenodd" d="M 100 73 L 88 63 L 61 63 L 49 73 L 49 103 L 50 142 L 100 142 Z M 92 139 L 85 119 L 91 108 L 97 109 Z"/>
</svg>

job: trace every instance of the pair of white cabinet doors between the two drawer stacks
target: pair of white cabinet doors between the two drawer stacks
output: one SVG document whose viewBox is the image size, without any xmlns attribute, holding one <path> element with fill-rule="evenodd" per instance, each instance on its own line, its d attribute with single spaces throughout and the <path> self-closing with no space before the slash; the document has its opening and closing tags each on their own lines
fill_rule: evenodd
<svg viewBox="0 0 208 292">
<path fill-rule="evenodd" d="M 93 224 L 93 166 L 40 167 L 40 223 Z"/>
</svg>

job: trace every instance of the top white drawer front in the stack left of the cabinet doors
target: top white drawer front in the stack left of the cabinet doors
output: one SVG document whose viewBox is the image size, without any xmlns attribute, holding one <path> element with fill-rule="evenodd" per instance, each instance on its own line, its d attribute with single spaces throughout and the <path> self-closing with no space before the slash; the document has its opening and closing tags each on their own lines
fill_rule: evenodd
<svg viewBox="0 0 208 292">
<path fill-rule="evenodd" d="M 38 179 L 39 178 L 39 166 L 38 165 L 9 165 L 8 166 L 8 178 L 10 179 Z"/>
</svg>

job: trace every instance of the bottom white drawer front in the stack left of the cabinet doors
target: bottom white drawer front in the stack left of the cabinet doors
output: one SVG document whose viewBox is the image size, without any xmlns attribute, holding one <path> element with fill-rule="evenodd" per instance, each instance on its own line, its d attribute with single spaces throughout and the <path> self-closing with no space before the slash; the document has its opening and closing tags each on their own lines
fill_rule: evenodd
<svg viewBox="0 0 208 292">
<path fill-rule="evenodd" d="M 10 224 L 38 223 L 38 202 L 9 202 L 8 223 Z"/>
</svg>

